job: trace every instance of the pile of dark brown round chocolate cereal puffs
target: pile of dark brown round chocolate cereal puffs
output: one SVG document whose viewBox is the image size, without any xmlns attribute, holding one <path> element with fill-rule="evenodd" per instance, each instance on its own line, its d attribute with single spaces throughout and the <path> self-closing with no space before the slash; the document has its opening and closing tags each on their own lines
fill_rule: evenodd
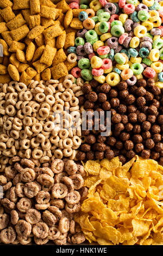
<svg viewBox="0 0 163 256">
<path fill-rule="evenodd" d="M 163 91 L 155 86 L 153 78 L 147 82 L 142 78 L 133 86 L 122 81 L 114 89 L 92 80 L 82 89 L 85 93 L 79 100 L 82 109 L 90 115 L 97 111 L 106 116 L 111 111 L 112 134 L 101 136 L 101 126 L 101 130 L 82 131 L 85 139 L 77 154 L 79 160 L 119 156 L 124 164 L 138 154 L 163 164 Z M 94 127 L 98 120 L 93 118 L 90 122 Z"/>
</svg>

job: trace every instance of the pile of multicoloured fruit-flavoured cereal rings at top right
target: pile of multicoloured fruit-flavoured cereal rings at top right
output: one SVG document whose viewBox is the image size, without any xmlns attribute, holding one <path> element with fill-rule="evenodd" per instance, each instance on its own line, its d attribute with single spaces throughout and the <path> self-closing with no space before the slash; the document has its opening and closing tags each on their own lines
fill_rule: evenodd
<svg viewBox="0 0 163 256">
<path fill-rule="evenodd" d="M 110 86 L 121 79 L 133 86 L 142 74 L 147 78 L 158 74 L 156 81 L 162 86 L 161 5 L 154 0 L 112 2 L 93 0 L 91 9 L 79 13 L 84 29 L 77 33 L 76 47 L 71 47 L 78 59 L 71 74 Z"/>
</svg>

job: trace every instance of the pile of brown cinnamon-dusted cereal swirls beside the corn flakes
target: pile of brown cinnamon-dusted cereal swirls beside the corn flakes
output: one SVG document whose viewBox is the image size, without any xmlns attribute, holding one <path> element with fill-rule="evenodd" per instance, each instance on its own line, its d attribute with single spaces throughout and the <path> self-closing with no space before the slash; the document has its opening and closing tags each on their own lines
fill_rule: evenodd
<svg viewBox="0 0 163 256">
<path fill-rule="evenodd" d="M 14 168 L 5 167 L 0 176 L 4 191 L 0 242 L 27 245 L 32 237 L 37 245 L 49 240 L 55 245 L 84 242 L 81 228 L 73 220 L 80 200 L 87 195 L 82 188 L 84 167 L 66 159 L 35 167 L 33 161 L 17 156 L 12 164 Z"/>
</svg>

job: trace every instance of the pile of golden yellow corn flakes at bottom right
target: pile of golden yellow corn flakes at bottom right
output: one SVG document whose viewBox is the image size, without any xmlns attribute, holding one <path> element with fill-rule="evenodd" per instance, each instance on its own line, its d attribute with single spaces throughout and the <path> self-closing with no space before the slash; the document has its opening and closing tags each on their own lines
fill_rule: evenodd
<svg viewBox="0 0 163 256">
<path fill-rule="evenodd" d="M 78 222 L 86 239 L 99 245 L 163 245 L 162 171 L 154 160 L 135 156 L 122 166 L 87 161 L 89 187 Z"/>
</svg>

